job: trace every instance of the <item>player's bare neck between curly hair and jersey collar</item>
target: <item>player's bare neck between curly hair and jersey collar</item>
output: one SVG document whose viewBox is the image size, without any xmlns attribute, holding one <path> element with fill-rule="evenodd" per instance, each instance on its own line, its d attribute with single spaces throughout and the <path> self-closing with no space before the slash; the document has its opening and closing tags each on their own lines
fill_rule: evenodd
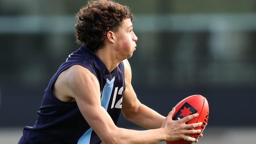
<svg viewBox="0 0 256 144">
<path fill-rule="evenodd" d="M 109 48 L 100 48 L 95 52 L 95 54 L 106 65 L 109 72 L 112 72 L 122 61 L 118 59 L 117 54 Z"/>
</svg>

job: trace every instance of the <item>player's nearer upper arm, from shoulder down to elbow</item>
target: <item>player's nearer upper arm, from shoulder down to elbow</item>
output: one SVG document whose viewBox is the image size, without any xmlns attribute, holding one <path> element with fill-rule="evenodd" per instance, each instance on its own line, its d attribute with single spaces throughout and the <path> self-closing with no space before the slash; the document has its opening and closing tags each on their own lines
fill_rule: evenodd
<svg viewBox="0 0 256 144">
<path fill-rule="evenodd" d="M 87 121 L 97 135 L 104 140 L 106 133 L 115 129 L 113 120 L 101 106 L 100 86 L 96 77 L 86 68 L 79 67 L 70 81 L 72 95 Z"/>
</svg>

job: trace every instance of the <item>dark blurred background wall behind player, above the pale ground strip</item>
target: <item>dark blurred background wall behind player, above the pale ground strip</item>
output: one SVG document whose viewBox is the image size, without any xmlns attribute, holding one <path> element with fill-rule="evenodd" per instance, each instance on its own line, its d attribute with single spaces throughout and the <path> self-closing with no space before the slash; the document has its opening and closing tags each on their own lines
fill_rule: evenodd
<svg viewBox="0 0 256 144">
<path fill-rule="evenodd" d="M 48 81 L 80 47 L 75 13 L 85 2 L 0 0 L 0 127 L 33 126 Z M 208 127 L 256 127 L 255 0 L 117 2 L 135 15 L 129 61 L 141 102 L 166 116 L 201 94 Z M 119 126 L 136 127 L 122 116 Z"/>
</svg>

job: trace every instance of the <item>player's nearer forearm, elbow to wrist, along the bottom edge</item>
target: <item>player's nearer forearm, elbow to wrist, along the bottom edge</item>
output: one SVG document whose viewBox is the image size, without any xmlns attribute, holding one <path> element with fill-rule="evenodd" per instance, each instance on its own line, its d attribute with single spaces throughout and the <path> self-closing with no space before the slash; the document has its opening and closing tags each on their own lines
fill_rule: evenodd
<svg viewBox="0 0 256 144">
<path fill-rule="evenodd" d="M 104 144 L 155 144 L 166 139 L 162 128 L 137 131 L 117 127 L 111 136 Z"/>
</svg>

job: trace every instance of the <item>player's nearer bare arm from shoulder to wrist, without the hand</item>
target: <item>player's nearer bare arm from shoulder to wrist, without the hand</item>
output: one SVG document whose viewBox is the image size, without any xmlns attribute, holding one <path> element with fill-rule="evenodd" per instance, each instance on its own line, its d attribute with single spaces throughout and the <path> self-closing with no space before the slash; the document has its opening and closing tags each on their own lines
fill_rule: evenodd
<svg viewBox="0 0 256 144">
<path fill-rule="evenodd" d="M 122 129 L 100 104 L 100 87 L 96 77 L 82 66 L 73 66 L 70 71 L 71 95 L 74 96 L 85 120 L 104 144 L 150 144 L 164 140 L 163 129 L 135 131 Z"/>
</svg>

